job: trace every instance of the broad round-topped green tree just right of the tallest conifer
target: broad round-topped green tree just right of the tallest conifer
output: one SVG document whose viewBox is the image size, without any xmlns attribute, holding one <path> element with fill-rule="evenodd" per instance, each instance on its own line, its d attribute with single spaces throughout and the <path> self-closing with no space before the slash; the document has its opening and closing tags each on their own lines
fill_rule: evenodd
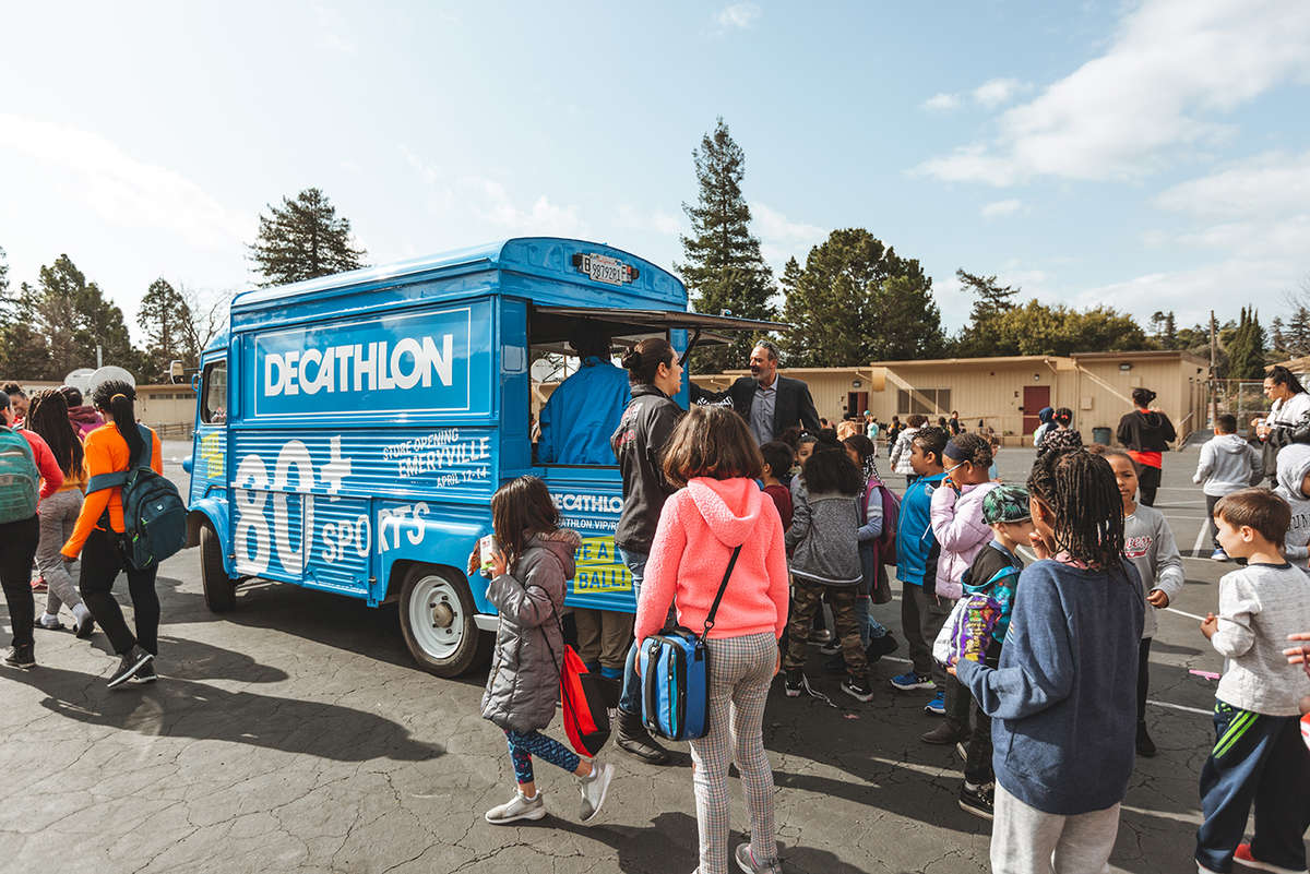
<svg viewBox="0 0 1310 874">
<path fill-rule="evenodd" d="M 943 345 L 933 280 L 863 228 L 834 230 L 810 250 L 803 271 L 789 262 L 782 339 L 789 366 L 850 366 L 930 357 Z"/>
</svg>

